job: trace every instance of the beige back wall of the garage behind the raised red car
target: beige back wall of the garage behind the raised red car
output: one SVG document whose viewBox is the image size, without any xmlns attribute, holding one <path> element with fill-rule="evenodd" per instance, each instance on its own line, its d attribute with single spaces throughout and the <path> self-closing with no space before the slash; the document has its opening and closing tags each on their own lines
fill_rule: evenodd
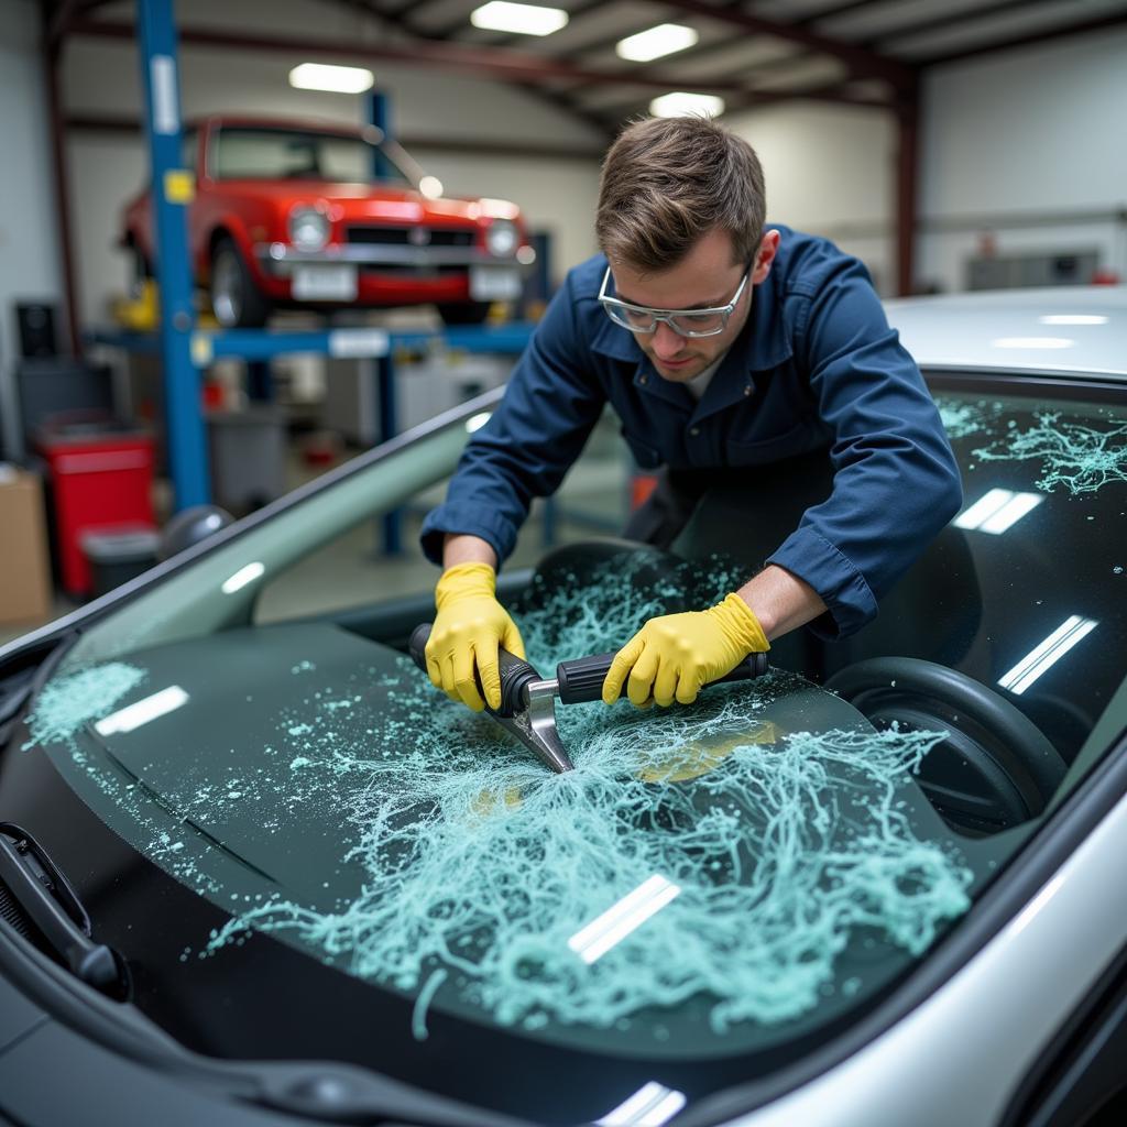
<svg viewBox="0 0 1127 1127">
<path fill-rule="evenodd" d="M 311 0 L 227 6 L 193 0 L 190 6 L 181 3 L 178 10 L 181 20 L 192 26 L 229 25 L 246 32 L 255 26 L 258 11 L 259 26 L 270 34 L 308 35 L 309 28 L 316 27 L 317 35 L 326 39 L 361 43 L 373 38 L 372 25 L 348 9 Z M 117 6 L 106 11 L 105 18 L 122 18 Z M 183 47 L 183 113 L 192 117 L 236 109 L 363 121 L 365 101 L 361 98 L 294 90 L 289 85 L 290 69 L 312 57 Z M 357 63 L 363 64 L 362 52 Z M 505 144 L 526 141 L 539 148 L 556 144 L 602 151 L 604 142 L 595 130 L 503 83 L 423 68 L 376 63 L 371 69 L 376 85 L 391 98 L 392 127 L 406 137 Z M 68 47 L 63 77 L 64 101 L 71 112 L 139 116 L 142 95 L 132 44 L 76 39 Z M 412 144 L 411 152 L 452 194 L 497 196 L 518 203 L 533 229 L 553 234 L 557 274 L 562 275 L 568 266 L 594 252 L 592 221 L 598 177 L 594 156 L 521 160 L 432 151 L 425 143 Z M 86 322 L 101 321 L 107 301 L 126 284 L 125 257 L 112 242 L 122 203 L 147 178 L 147 157 L 140 135 L 72 131 L 68 159 L 81 316 Z"/>
</svg>

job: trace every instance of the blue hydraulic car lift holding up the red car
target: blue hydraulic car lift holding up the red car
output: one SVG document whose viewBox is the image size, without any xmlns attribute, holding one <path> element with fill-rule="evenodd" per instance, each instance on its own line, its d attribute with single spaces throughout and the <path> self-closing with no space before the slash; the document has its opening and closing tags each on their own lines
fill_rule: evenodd
<svg viewBox="0 0 1127 1127">
<path fill-rule="evenodd" d="M 165 373 L 165 414 L 169 470 L 177 511 L 211 498 L 207 436 L 199 406 L 199 371 L 213 361 L 239 358 L 248 364 L 255 398 L 269 397 L 267 365 L 300 353 L 347 356 L 378 362 L 380 437 L 397 433 L 392 357 L 435 341 L 473 353 L 520 354 L 532 334 L 529 323 L 452 327 L 442 332 L 389 332 L 379 328 L 321 330 L 229 329 L 195 326 L 193 279 L 188 259 L 186 207 L 195 180 L 181 165 L 179 77 L 172 0 L 137 0 L 137 39 L 145 91 L 145 134 L 152 170 L 151 205 L 157 240 L 154 270 L 160 292 L 159 335 L 95 331 L 88 339 L 128 352 L 159 352 Z M 372 96 L 370 117 L 388 131 L 388 104 Z M 400 550 L 399 515 L 384 520 L 384 550 Z"/>
</svg>

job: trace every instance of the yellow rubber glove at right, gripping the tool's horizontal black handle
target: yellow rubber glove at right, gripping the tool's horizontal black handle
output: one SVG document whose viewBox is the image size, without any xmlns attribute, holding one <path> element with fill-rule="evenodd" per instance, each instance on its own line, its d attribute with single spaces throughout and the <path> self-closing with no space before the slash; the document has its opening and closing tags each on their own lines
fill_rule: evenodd
<svg viewBox="0 0 1127 1127">
<path fill-rule="evenodd" d="M 633 704 L 650 698 L 663 708 L 674 700 L 691 704 L 702 685 L 731 673 L 748 654 L 770 648 L 760 620 L 736 594 L 707 611 L 663 614 L 615 655 L 603 681 L 603 702 L 619 699 L 629 674 L 627 695 Z"/>
</svg>

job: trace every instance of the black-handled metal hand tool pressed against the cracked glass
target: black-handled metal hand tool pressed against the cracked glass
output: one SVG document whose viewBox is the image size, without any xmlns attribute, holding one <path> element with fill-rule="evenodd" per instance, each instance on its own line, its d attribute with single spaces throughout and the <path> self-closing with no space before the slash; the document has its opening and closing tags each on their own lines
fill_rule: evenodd
<svg viewBox="0 0 1127 1127">
<path fill-rule="evenodd" d="M 410 655 L 415 664 L 426 673 L 426 642 L 431 637 L 431 623 L 423 622 L 415 628 L 410 639 Z M 540 760 L 557 773 L 573 771 L 574 764 L 556 730 L 556 698 L 561 704 L 583 704 L 602 700 L 603 681 L 618 650 L 577 657 L 560 662 L 554 677 L 541 677 L 527 663 L 500 648 L 497 664 L 500 668 L 500 708 L 486 711 L 512 733 Z M 719 685 L 734 681 L 752 681 L 767 672 L 766 654 L 749 654 L 735 669 L 709 684 Z M 480 685 L 478 686 L 480 689 Z M 707 687 L 707 686 L 706 686 Z M 485 693 L 481 694 L 485 698 Z"/>
</svg>

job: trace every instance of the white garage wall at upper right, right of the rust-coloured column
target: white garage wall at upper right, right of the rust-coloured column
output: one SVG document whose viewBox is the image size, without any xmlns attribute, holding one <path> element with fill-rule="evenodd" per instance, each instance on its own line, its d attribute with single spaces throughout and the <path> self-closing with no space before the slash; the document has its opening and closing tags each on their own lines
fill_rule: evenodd
<svg viewBox="0 0 1127 1127">
<path fill-rule="evenodd" d="M 984 232 L 999 255 L 1098 248 L 1127 278 L 1127 224 L 1113 214 L 1127 210 L 1125 60 L 1127 32 L 1113 30 L 928 76 L 921 278 L 964 289 Z"/>
</svg>

